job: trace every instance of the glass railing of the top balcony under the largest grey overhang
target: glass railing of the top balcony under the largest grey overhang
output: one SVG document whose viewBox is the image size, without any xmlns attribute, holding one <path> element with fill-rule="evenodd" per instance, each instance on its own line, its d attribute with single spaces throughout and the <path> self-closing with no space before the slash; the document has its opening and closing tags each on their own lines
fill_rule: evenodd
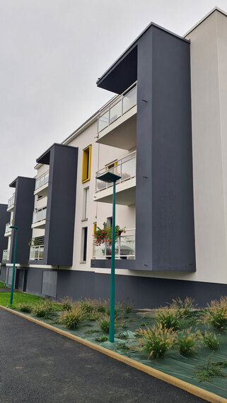
<svg viewBox="0 0 227 403">
<path fill-rule="evenodd" d="M 136 105 L 136 94 L 137 88 L 136 83 L 134 83 L 120 95 L 120 99 L 113 101 L 108 109 L 98 117 L 98 133 Z"/>
</svg>

